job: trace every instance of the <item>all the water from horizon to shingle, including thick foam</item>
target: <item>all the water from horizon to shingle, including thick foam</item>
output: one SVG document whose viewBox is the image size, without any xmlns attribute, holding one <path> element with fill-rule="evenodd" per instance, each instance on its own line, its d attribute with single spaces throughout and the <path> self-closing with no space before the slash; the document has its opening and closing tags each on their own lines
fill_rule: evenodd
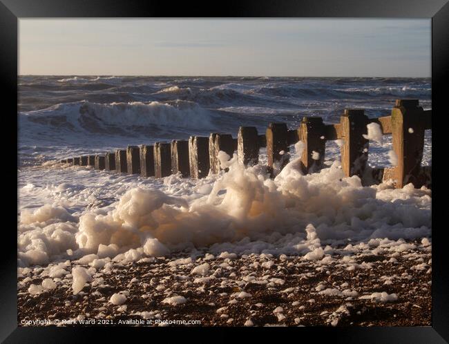
<svg viewBox="0 0 449 344">
<path fill-rule="evenodd" d="M 379 117 L 390 114 L 397 98 L 431 108 L 430 79 L 19 77 L 19 265 L 73 259 L 112 243 L 121 251 L 140 247 L 142 254 L 153 252 L 157 240 L 191 247 L 247 236 L 264 244 L 222 245 L 263 251 L 275 231 L 294 233 L 299 241 L 282 239 L 287 251 L 305 253 L 304 247 L 316 249 L 303 238 L 309 225 L 321 240 L 429 236 L 430 191 L 361 187 L 343 178 L 338 163 L 303 176 L 292 162 L 272 181 L 262 166 L 249 171 L 233 164 L 229 173 L 202 180 L 155 180 L 57 162 L 193 134 L 236 137 L 242 125 L 260 132 L 269 122 L 296 128 L 305 115 L 335 123 L 344 108 Z M 371 165 L 390 165 L 391 135 L 384 138 L 370 142 Z M 334 142 L 326 149 L 325 160 L 339 160 Z M 430 149 L 428 131 L 423 164 L 431 163 Z M 261 152 L 260 164 L 264 159 Z M 162 207 L 166 202 L 175 205 Z M 308 246 L 296 245 L 300 240 Z"/>
</svg>

